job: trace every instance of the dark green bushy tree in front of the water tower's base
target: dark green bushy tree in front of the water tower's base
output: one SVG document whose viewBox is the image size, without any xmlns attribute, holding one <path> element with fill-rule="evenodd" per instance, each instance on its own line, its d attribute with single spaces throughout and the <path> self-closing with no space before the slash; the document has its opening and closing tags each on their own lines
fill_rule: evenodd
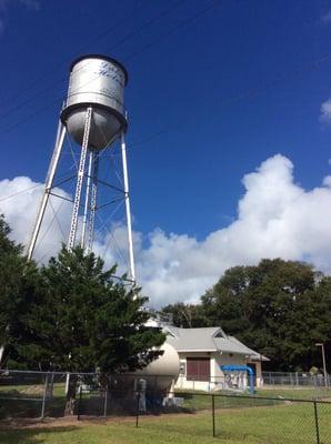
<svg viewBox="0 0 331 444">
<path fill-rule="evenodd" d="M 158 329 L 144 324 L 147 299 L 114 282 L 114 269 L 81 248 L 62 248 L 33 279 L 29 305 L 12 337 L 17 364 L 30 370 L 121 373 L 142 369 L 161 352 Z M 73 412 L 77 377 L 70 379 L 67 413 Z"/>
</svg>

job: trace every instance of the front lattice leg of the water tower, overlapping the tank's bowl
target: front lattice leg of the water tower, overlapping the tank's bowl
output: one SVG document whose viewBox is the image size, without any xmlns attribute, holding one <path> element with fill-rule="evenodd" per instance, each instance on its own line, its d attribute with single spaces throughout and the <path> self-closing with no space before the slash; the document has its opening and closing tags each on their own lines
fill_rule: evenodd
<svg viewBox="0 0 331 444">
<path fill-rule="evenodd" d="M 92 108 L 89 107 L 87 109 L 84 135 L 83 135 L 82 145 L 81 145 L 80 161 L 79 161 L 79 168 L 78 168 L 77 185 L 76 185 L 73 209 L 72 209 L 72 215 L 71 215 L 70 234 L 69 234 L 69 240 L 68 240 L 68 245 L 67 245 L 68 250 L 73 249 L 74 241 L 76 241 L 78 213 L 79 213 L 80 196 L 81 196 L 82 183 L 83 183 L 84 171 L 86 171 L 86 160 L 87 160 L 87 152 L 88 152 L 88 145 L 89 145 L 91 118 L 92 118 Z"/>
</svg>

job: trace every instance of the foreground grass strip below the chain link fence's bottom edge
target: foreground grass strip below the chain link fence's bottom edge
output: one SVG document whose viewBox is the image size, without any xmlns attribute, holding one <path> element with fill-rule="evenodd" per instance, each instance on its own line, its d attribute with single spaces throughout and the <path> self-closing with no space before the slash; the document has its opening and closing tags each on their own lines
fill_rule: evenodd
<svg viewBox="0 0 331 444">
<path fill-rule="evenodd" d="M 78 422 L 60 427 L 0 431 L 1 444 L 311 444 L 315 443 L 311 404 L 218 410 L 217 438 L 210 412 Z M 331 406 L 319 408 L 322 444 L 331 444 Z"/>
</svg>

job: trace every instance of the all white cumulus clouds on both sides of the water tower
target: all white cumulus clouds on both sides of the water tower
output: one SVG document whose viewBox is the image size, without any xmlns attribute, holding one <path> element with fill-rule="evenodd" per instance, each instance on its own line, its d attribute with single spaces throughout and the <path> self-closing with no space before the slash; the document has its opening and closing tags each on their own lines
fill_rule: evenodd
<svg viewBox="0 0 331 444">
<path fill-rule="evenodd" d="M 0 199 L 29 184 L 32 182 L 28 178 L 2 181 Z M 134 233 L 138 281 L 153 306 L 195 301 L 228 268 L 255 264 L 262 258 L 305 260 L 322 271 L 331 271 L 331 176 L 322 179 L 320 186 L 304 190 L 294 181 L 292 162 L 278 154 L 245 174 L 242 184 L 244 193 L 234 221 L 202 241 L 187 234 L 168 234 L 160 228 L 148 234 Z M 40 192 L 36 188 L 4 201 L 6 208 L 0 201 L 0 211 L 13 228 L 12 235 L 21 242 L 27 239 Z M 66 208 L 61 213 L 67 229 L 70 211 Z M 49 221 L 51 216 L 48 215 Z M 113 228 L 112 236 L 126 256 L 126 229 L 120 223 Z M 54 250 L 60 238 L 53 224 L 52 243 L 40 244 L 39 254 Z M 148 242 L 142 242 L 146 238 Z M 116 256 L 107 249 L 110 240 L 109 234 L 99 235 L 94 245 L 108 264 Z M 120 266 L 124 269 L 124 260 Z"/>
</svg>

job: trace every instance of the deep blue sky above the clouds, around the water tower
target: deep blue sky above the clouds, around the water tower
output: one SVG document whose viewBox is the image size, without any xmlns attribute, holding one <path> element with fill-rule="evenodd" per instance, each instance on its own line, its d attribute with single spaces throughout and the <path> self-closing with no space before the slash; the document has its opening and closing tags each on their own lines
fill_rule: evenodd
<svg viewBox="0 0 331 444">
<path fill-rule="evenodd" d="M 128 153 L 146 235 L 202 242 L 229 226 L 242 178 L 278 153 L 304 190 L 330 172 L 331 58 L 312 64 L 331 56 L 330 1 L 0 0 L 0 180 L 43 181 L 72 59 L 126 64 L 128 145 L 146 140 Z"/>
</svg>

